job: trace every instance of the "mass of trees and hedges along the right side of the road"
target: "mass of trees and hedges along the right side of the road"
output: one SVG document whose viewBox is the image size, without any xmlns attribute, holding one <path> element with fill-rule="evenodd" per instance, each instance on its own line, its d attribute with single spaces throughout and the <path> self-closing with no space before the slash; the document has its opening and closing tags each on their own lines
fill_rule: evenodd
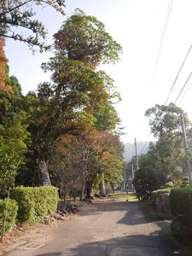
<svg viewBox="0 0 192 256">
<path fill-rule="evenodd" d="M 133 185 L 139 201 L 148 203 L 148 211 L 157 218 L 172 220 L 172 236 L 189 250 L 192 235 L 192 198 L 185 161 L 183 114 L 192 148 L 191 123 L 183 109 L 175 104 L 155 105 L 146 111 L 155 141 L 149 143 L 148 152 L 139 157 L 139 168 L 134 172 Z M 136 170 L 136 159 L 131 163 Z M 131 163 L 125 166 L 125 176 L 131 173 Z M 191 255 L 191 254 L 187 254 Z"/>
</svg>

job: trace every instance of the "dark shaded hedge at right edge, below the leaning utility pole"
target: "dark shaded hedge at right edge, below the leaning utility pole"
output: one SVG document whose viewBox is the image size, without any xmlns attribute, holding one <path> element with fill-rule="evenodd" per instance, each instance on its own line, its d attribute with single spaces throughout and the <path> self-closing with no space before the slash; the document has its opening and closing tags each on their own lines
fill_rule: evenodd
<svg viewBox="0 0 192 256">
<path fill-rule="evenodd" d="M 183 224 L 189 224 L 189 188 L 172 189 L 170 210 L 172 215 Z"/>
</svg>

